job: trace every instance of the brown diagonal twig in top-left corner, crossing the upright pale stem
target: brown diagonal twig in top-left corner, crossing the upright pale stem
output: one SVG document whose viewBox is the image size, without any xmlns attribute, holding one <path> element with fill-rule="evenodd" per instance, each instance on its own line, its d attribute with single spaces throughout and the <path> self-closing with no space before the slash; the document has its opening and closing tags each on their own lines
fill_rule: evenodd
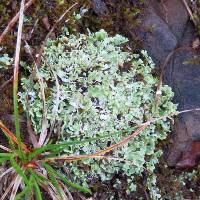
<svg viewBox="0 0 200 200">
<path fill-rule="evenodd" d="M 33 3 L 35 2 L 35 0 L 29 0 L 25 6 L 24 6 L 24 10 L 27 10 L 27 8 L 29 8 Z M 5 28 L 5 30 L 3 31 L 3 33 L 0 35 L 0 44 L 2 43 L 3 39 L 5 38 L 5 36 L 10 32 L 10 30 L 12 29 L 12 27 L 15 25 L 15 23 L 18 21 L 20 16 L 20 12 L 18 12 L 13 18 L 12 20 L 8 23 L 7 27 Z"/>
</svg>

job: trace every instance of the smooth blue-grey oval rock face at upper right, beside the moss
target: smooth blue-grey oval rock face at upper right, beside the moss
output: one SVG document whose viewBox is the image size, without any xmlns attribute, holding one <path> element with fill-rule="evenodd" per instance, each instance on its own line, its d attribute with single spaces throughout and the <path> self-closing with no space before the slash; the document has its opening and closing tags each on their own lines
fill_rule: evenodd
<svg viewBox="0 0 200 200">
<path fill-rule="evenodd" d="M 144 48 L 157 65 L 177 46 L 177 38 L 166 22 L 157 14 L 152 5 L 147 6 L 146 15 L 141 19 L 144 32 L 140 33 Z"/>
</svg>

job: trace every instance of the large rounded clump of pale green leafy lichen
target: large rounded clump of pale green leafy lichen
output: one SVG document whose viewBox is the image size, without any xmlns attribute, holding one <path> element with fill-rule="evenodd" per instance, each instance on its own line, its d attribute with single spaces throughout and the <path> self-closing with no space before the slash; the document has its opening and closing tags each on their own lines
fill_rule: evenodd
<svg viewBox="0 0 200 200">
<path fill-rule="evenodd" d="M 154 63 L 146 51 L 133 54 L 121 35 L 108 36 L 104 30 L 96 33 L 65 34 L 48 41 L 39 69 L 45 81 L 48 126 L 59 141 L 80 141 L 97 138 L 87 144 L 66 146 L 65 152 L 90 154 L 117 143 L 145 120 L 175 111 L 173 93 L 162 87 L 160 106 L 155 109 L 158 80 L 151 71 Z M 33 82 L 32 82 L 33 81 Z M 23 79 L 20 101 L 29 113 L 35 131 L 40 134 L 42 98 L 40 85 L 32 76 Z M 135 175 L 153 172 L 161 152 L 155 146 L 169 131 L 166 119 L 151 124 L 134 140 L 108 153 L 108 159 L 87 159 L 66 163 L 69 177 L 82 184 L 91 180 L 111 180 L 117 173 L 127 177 L 126 192 L 136 189 Z M 110 135 L 108 138 L 103 138 Z M 149 176 L 150 183 L 155 184 Z M 120 185 L 116 181 L 114 187 Z M 153 190 L 152 190 L 153 191 Z"/>
</svg>

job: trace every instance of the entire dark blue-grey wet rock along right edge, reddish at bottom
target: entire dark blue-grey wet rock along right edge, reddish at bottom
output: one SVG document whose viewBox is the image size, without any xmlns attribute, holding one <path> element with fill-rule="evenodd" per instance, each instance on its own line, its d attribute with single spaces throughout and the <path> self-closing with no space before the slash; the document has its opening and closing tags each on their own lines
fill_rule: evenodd
<svg viewBox="0 0 200 200">
<path fill-rule="evenodd" d="M 142 18 L 144 48 L 157 66 L 162 67 L 167 56 L 174 52 L 164 69 L 164 83 L 173 88 L 178 110 L 200 107 L 200 64 L 187 62 L 199 56 L 192 48 L 195 30 L 188 19 L 181 0 L 151 1 Z M 178 47 L 182 48 L 176 50 Z M 193 167 L 200 150 L 194 145 L 197 141 L 200 141 L 200 112 L 179 115 L 172 133 L 169 166 Z"/>
</svg>

